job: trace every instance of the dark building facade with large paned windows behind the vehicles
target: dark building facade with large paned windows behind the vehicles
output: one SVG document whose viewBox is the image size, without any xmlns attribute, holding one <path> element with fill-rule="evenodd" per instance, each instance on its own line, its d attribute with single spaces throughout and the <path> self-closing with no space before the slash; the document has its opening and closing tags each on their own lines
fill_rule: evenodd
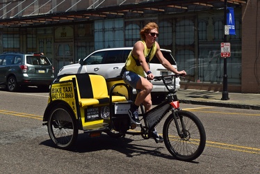
<svg viewBox="0 0 260 174">
<path fill-rule="evenodd" d="M 228 90 L 260 93 L 260 5 L 226 4 L 234 8 L 236 31 L 226 35 Z M 44 52 L 56 74 L 97 49 L 133 46 L 140 29 L 156 22 L 161 48 L 188 73 L 181 88 L 222 91 L 224 1 L 3 0 L 0 8 L 0 52 Z"/>
</svg>

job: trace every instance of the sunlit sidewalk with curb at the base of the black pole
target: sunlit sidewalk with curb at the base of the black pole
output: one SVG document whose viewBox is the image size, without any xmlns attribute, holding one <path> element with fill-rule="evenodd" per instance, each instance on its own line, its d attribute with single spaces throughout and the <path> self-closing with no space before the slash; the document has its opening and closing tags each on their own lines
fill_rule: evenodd
<svg viewBox="0 0 260 174">
<path fill-rule="evenodd" d="M 260 94 L 228 93 L 229 100 L 221 100 L 222 92 L 180 89 L 177 97 L 181 103 L 186 104 L 260 110 Z"/>
</svg>

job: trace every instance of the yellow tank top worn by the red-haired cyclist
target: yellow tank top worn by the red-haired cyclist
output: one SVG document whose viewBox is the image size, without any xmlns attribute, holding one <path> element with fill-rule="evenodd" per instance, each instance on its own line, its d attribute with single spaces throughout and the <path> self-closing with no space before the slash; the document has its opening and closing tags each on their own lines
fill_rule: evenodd
<svg viewBox="0 0 260 174">
<path fill-rule="evenodd" d="M 154 57 L 154 54 L 156 53 L 156 44 L 152 45 L 151 49 L 147 49 L 147 46 L 146 46 L 144 40 L 140 40 L 138 42 L 142 42 L 143 45 L 145 46 L 145 49 L 143 52 L 145 56 L 148 56 L 149 52 L 152 49 L 152 52 L 150 52 L 150 56 L 149 56 L 149 61 L 151 61 L 152 58 Z M 136 74 L 139 74 L 140 76 L 145 77 L 145 72 L 143 70 L 143 67 L 136 65 L 136 61 L 134 59 L 137 60 L 138 58 L 133 57 L 132 51 L 129 53 L 129 56 L 127 58 L 126 69 L 127 69 L 127 71 L 135 72 Z"/>
</svg>

